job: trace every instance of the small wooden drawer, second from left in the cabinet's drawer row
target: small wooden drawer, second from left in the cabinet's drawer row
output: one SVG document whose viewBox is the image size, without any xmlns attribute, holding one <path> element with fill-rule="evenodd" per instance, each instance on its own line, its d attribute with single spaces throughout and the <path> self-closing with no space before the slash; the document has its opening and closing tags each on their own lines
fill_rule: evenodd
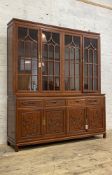
<svg viewBox="0 0 112 175">
<path fill-rule="evenodd" d="M 59 99 L 59 100 L 46 100 L 45 101 L 45 106 L 50 106 L 50 107 L 52 107 L 52 106 L 65 106 L 65 100 L 61 100 L 61 99 Z"/>
</svg>

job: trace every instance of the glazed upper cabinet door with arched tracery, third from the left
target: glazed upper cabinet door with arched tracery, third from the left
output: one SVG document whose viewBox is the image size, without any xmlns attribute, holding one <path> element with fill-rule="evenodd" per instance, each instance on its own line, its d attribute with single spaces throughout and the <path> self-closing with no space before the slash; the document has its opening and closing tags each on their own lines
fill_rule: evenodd
<svg viewBox="0 0 112 175">
<path fill-rule="evenodd" d="M 66 34 L 64 37 L 65 91 L 81 91 L 81 38 Z"/>
</svg>

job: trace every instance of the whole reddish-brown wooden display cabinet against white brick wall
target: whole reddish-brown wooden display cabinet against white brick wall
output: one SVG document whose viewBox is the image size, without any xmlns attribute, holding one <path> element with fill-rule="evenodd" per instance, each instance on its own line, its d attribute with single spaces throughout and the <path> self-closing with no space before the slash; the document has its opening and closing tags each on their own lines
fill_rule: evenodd
<svg viewBox="0 0 112 175">
<path fill-rule="evenodd" d="M 7 31 L 7 143 L 105 138 L 100 34 L 20 19 Z"/>
</svg>

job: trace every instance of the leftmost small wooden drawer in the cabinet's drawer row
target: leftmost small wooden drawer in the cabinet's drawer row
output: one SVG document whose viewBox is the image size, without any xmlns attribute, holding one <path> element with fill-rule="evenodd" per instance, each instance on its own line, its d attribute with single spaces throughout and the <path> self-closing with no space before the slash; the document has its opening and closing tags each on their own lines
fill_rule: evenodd
<svg viewBox="0 0 112 175">
<path fill-rule="evenodd" d="M 42 101 L 40 100 L 17 100 L 17 107 L 23 108 L 41 108 L 43 106 Z"/>
</svg>

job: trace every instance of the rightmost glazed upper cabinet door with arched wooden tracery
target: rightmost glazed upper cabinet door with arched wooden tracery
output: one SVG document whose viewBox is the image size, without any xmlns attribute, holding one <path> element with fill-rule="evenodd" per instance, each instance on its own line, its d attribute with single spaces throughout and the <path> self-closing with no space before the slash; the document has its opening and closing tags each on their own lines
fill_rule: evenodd
<svg viewBox="0 0 112 175">
<path fill-rule="evenodd" d="M 99 87 L 99 40 L 97 38 L 84 37 L 83 56 L 83 91 L 95 92 Z"/>
</svg>

